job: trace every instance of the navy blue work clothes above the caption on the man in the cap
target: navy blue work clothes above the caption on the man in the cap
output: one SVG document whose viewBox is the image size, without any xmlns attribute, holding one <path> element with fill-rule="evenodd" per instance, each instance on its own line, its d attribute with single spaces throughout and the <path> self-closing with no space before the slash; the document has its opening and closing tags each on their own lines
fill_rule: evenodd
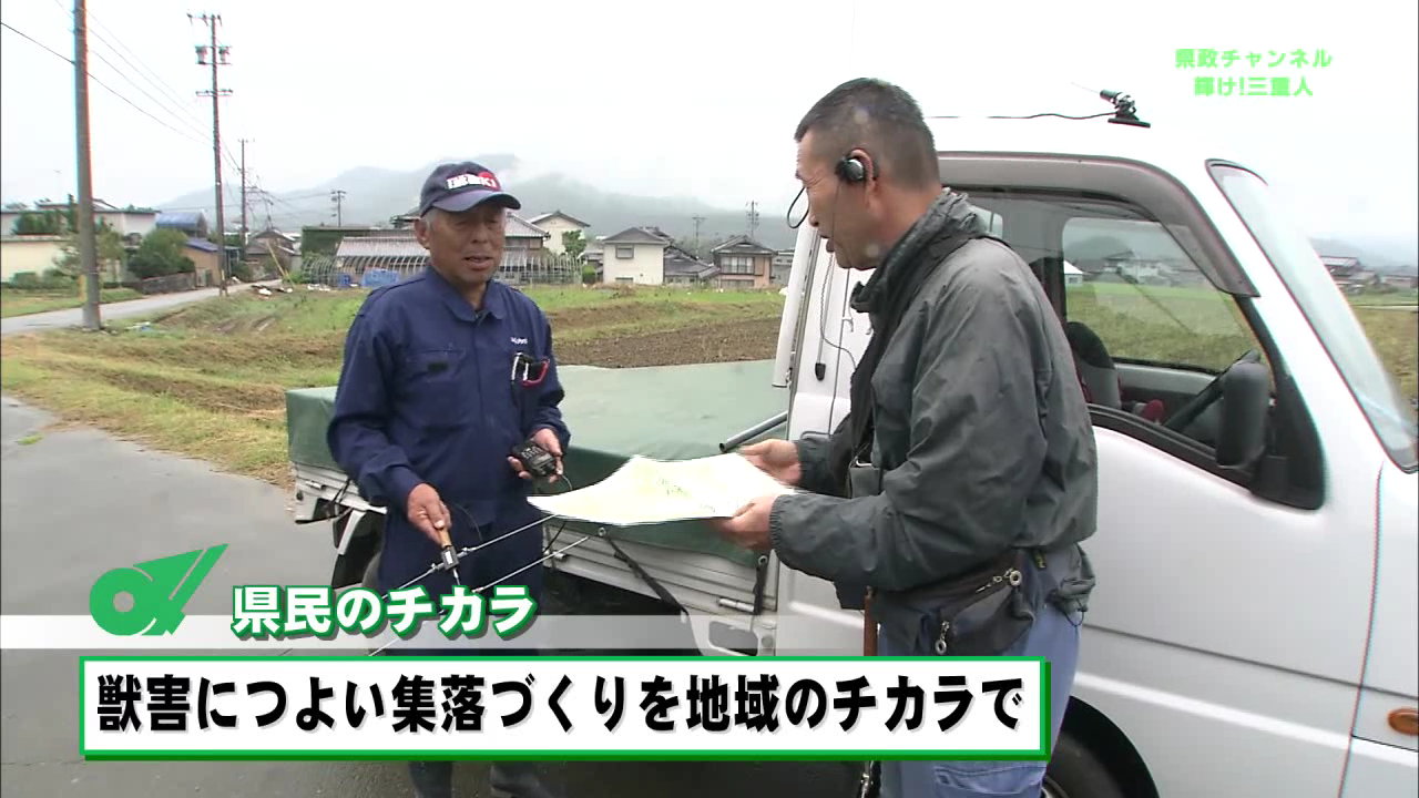
<svg viewBox="0 0 1419 798">
<path fill-rule="evenodd" d="M 514 373 L 518 354 L 546 368 Z M 448 505 L 457 548 L 541 517 L 508 456 L 542 427 L 552 429 L 566 452 L 562 396 L 551 325 L 521 291 L 490 281 L 475 311 L 427 267 L 369 294 L 345 341 L 326 442 L 360 496 L 386 507 L 382 592 L 438 561 L 438 547 L 406 515 L 406 498 L 419 483 L 433 486 Z M 468 588 L 499 581 L 541 551 L 536 525 L 464 557 L 460 581 Z M 525 584 L 536 595 L 541 574 L 541 567 L 525 568 L 505 584 Z M 453 576 L 438 572 L 420 584 L 437 596 Z"/>
</svg>

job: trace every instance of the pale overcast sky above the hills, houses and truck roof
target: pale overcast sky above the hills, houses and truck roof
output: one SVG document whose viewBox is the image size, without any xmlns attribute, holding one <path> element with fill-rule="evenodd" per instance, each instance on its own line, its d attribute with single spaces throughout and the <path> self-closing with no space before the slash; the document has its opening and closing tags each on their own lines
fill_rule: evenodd
<svg viewBox="0 0 1419 798">
<path fill-rule="evenodd" d="M 70 1 L 0 9 L 72 55 Z M 1419 217 L 1419 11 L 1381 0 L 89 0 L 94 77 L 182 131 L 91 82 L 95 196 L 162 203 L 211 185 L 211 104 L 194 95 L 210 71 L 193 50 L 207 34 L 187 18 L 201 11 L 221 14 L 231 47 L 224 143 L 237 155 L 251 139 L 267 190 L 498 151 L 610 190 L 780 213 L 797 118 L 866 74 L 942 115 L 1097 114 L 1108 106 L 1080 87 L 1121 89 L 1155 125 L 1232 138 L 1313 234 L 1412 241 Z M 72 67 L 0 37 L 0 197 L 62 197 L 75 190 Z M 1195 97 L 1179 47 L 1237 50 L 1237 77 L 1304 74 L 1314 97 Z M 1267 70 L 1270 51 L 1296 48 L 1332 61 Z"/>
</svg>

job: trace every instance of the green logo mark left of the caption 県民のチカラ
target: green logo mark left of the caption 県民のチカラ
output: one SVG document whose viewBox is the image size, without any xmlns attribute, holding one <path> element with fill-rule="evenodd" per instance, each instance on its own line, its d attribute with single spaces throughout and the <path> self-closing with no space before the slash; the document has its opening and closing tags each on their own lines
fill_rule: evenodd
<svg viewBox="0 0 1419 798">
<path fill-rule="evenodd" d="M 89 615 L 109 635 L 170 635 L 184 618 L 182 608 L 226 550 L 221 544 L 115 568 L 89 589 Z M 116 601 L 123 595 L 132 606 L 119 609 Z"/>
</svg>

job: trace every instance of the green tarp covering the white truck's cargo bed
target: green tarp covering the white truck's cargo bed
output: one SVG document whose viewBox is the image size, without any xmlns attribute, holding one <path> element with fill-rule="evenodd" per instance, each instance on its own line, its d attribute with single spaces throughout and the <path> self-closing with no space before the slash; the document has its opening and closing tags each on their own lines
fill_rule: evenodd
<svg viewBox="0 0 1419 798">
<path fill-rule="evenodd" d="M 561 366 L 558 373 L 566 389 L 562 415 L 572 430 L 566 476 L 573 486 L 585 487 L 610 476 L 633 454 L 657 460 L 718 454 L 719 442 L 788 410 L 788 390 L 769 385 L 772 365 L 772 361 L 748 361 L 637 369 Z M 292 463 L 341 470 L 325 446 L 333 400 L 335 386 L 287 390 Z M 758 437 L 783 434 L 785 427 L 779 426 Z M 576 521 L 566 525 L 590 530 Z M 756 558 L 695 521 L 609 531 L 622 541 L 714 554 L 745 565 Z"/>
</svg>

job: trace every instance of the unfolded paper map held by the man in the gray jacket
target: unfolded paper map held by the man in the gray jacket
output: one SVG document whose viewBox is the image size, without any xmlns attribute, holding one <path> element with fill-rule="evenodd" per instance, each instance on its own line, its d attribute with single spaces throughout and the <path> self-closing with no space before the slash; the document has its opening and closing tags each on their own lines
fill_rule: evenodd
<svg viewBox="0 0 1419 798">
<path fill-rule="evenodd" d="M 731 453 L 673 461 L 631 457 L 593 486 L 528 501 L 559 518 L 631 527 L 728 518 L 755 497 L 785 493 L 795 491 Z"/>
</svg>

